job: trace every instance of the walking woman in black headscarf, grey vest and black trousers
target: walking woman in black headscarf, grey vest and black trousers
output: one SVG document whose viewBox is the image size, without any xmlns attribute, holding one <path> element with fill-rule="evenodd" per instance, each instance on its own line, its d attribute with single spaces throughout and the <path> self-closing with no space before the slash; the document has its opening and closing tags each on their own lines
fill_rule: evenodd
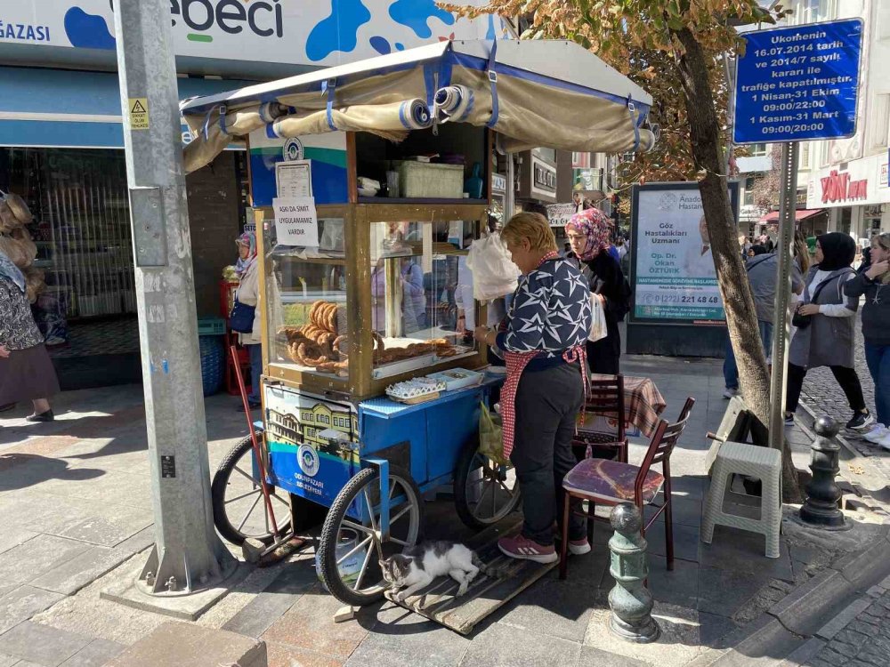
<svg viewBox="0 0 890 667">
<path fill-rule="evenodd" d="M 845 296 L 844 288 L 856 273 L 850 266 L 856 255 L 854 240 L 840 232 L 816 240 L 815 264 L 805 278 L 804 299 L 797 314 L 810 317 L 810 325 L 798 328 L 791 341 L 785 421 L 792 422 L 811 368 L 829 366 L 844 390 L 853 418 L 846 428 L 862 430 L 874 422 L 854 366 L 854 324 L 859 298 Z"/>
</svg>

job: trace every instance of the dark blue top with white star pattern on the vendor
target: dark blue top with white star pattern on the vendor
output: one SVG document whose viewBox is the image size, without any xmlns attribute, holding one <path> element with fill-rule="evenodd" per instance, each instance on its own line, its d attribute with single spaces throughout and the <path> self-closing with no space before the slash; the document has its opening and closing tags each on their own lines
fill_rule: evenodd
<svg viewBox="0 0 890 667">
<path fill-rule="evenodd" d="M 571 261 L 545 261 L 519 279 L 497 345 L 510 352 L 544 352 L 542 360 L 559 359 L 565 350 L 587 342 L 590 324 L 587 278 Z"/>
</svg>

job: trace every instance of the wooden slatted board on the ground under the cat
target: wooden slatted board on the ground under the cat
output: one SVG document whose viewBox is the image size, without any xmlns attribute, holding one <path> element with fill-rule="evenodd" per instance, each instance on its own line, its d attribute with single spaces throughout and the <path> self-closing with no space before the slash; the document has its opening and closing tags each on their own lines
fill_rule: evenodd
<svg viewBox="0 0 890 667">
<path fill-rule="evenodd" d="M 392 591 L 386 591 L 386 599 L 450 630 L 469 634 L 483 618 L 503 607 L 557 565 L 510 559 L 498 550 L 498 539 L 514 533 L 521 524 L 520 519 L 503 527 L 491 526 L 467 543 L 483 563 L 496 571 L 496 576 L 480 573 L 462 597 L 455 595 L 457 582 L 450 577 L 441 577 L 403 602 L 395 602 Z"/>
</svg>

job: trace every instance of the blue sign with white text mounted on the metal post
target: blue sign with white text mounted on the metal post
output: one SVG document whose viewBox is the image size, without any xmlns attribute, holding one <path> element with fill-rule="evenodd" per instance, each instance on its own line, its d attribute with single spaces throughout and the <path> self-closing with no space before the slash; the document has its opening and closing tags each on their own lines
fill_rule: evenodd
<svg viewBox="0 0 890 667">
<path fill-rule="evenodd" d="M 745 34 L 735 81 L 735 143 L 851 137 L 862 19 Z"/>
</svg>

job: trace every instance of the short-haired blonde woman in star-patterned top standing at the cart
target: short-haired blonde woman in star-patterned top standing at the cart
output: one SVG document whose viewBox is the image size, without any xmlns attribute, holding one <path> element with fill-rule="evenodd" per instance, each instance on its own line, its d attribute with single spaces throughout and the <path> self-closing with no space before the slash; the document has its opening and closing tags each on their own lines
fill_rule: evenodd
<svg viewBox="0 0 890 667">
<path fill-rule="evenodd" d="M 571 438 L 584 402 L 590 290 L 574 263 L 556 252 L 553 230 L 540 213 L 514 215 L 501 237 L 522 277 L 499 331 L 479 326 L 473 332 L 506 361 L 504 454 L 522 486 L 522 533 L 500 539 L 498 548 L 514 559 L 553 563 L 559 559 L 554 522 L 562 521 L 562 478 L 576 464 Z M 571 553 L 587 553 L 584 519 L 573 514 L 570 521 Z"/>
</svg>

